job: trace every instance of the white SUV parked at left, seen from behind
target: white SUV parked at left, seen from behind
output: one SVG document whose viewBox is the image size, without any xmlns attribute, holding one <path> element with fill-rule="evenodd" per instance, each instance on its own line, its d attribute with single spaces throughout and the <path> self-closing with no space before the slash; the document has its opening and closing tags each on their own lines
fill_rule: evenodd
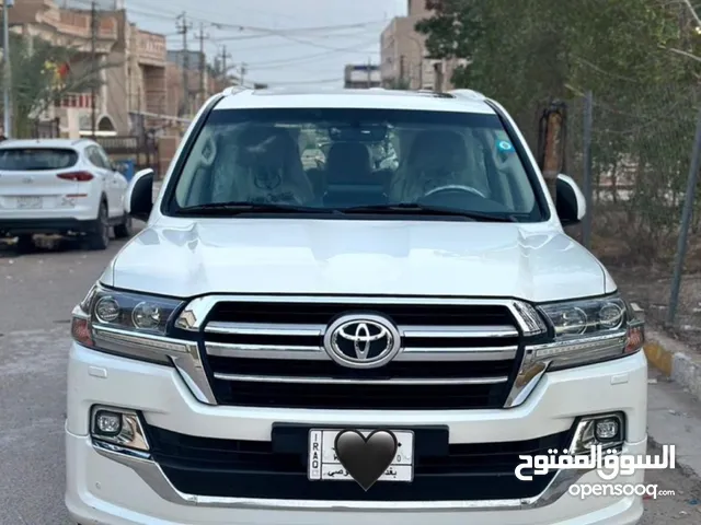
<svg viewBox="0 0 701 525">
<path fill-rule="evenodd" d="M 128 183 L 92 140 L 0 142 L 0 236 L 31 246 L 34 234 L 82 234 L 105 249 L 110 229 L 131 234 L 125 210 Z"/>
</svg>

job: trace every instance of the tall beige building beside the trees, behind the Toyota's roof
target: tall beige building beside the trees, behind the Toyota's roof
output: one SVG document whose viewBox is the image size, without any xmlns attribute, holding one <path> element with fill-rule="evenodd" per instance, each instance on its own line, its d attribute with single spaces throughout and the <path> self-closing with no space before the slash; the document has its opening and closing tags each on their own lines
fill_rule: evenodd
<svg viewBox="0 0 701 525">
<path fill-rule="evenodd" d="M 382 85 L 411 90 L 448 91 L 459 60 L 434 60 L 427 57 L 426 37 L 416 32 L 416 23 L 429 18 L 426 0 L 407 0 L 407 15 L 395 16 L 380 36 Z"/>
</svg>

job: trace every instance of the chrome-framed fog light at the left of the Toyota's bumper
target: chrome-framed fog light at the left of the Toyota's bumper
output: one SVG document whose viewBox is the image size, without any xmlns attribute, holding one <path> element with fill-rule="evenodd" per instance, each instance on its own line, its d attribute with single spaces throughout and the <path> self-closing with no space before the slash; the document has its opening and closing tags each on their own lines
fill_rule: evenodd
<svg viewBox="0 0 701 525">
<path fill-rule="evenodd" d="M 93 407 L 90 425 L 93 445 L 113 452 L 148 451 L 139 415 L 114 407 Z"/>
</svg>

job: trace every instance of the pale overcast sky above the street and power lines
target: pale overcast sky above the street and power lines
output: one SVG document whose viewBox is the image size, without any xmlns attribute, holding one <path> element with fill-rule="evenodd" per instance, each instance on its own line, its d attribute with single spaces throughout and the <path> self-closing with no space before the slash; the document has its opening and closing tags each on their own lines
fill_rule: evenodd
<svg viewBox="0 0 701 525">
<path fill-rule="evenodd" d="M 246 84 L 269 85 L 343 85 L 346 63 L 379 63 L 380 33 L 406 14 L 406 0 L 125 0 L 125 7 L 140 28 L 165 34 L 169 49 L 183 48 L 176 18 L 185 12 L 189 49 L 199 48 L 204 28 L 208 61 L 226 46 L 228 65 L 246 65 Z"/>
</svg>

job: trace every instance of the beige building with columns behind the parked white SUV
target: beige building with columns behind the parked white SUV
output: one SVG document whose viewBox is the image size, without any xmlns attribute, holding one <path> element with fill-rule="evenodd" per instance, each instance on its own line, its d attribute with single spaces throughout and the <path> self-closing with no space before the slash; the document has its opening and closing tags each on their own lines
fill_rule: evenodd
<svg viewBox="0 0 701 525">
<path fill-rule="evenodd" d="M 18 1 L 9 11 L 11 31 L 27 42 L 41 38 L 71 49 L 69 78 L 93 75 L 100 86 L 94 101 L 90 89 L 69 86 L 36 117 L 58 119 L 61 136 L 71 138 L 92 135 L 93 104 L 97 136 L 139 135 L 145 127 L 162 126 L 169 117 L 165 36 L 141 31 L 124 9 L 113 10 L 123 7 L 120 0 L 103 0 L 99 7 L 108 10 L 97 12 L 93 68 L 90 10 L 70 9 L 70 0 L 60 5 L 55 0 Z"/>
</svg>

